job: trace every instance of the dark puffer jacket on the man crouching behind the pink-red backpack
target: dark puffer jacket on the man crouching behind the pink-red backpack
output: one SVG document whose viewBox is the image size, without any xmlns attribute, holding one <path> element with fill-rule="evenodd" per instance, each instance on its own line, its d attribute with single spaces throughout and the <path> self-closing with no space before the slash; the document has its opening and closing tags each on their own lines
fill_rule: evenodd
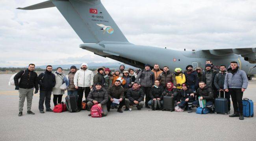
<svg viewBox="0 0 256 141">
<path fill-rule="evenodd" d="M 87 101 L 93 102 L 93 100 L 96 100 L 98 103 L 105 105 L 108 102 L 108 92 L 104 88 L 97 90 L 94 87 L 87 96 Z"/>
</svg>

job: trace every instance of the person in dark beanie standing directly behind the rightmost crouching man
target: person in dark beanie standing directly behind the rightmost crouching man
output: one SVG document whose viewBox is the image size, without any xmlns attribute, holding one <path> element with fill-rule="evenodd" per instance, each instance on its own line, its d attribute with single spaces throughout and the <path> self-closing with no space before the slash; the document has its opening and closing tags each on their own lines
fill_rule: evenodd
<svg viewBox="0 0 256 141">
<path fill-rule="evenodd" d="M 206 64 L 205 70 L 206 71 L 204 71 L 202 74 L 202 81 L 206 84 L 206 86 L 213 90 L 213 97 L 217 98 L 218 92 L 214 85 L 214 78 L 218 72 L 211 68 L 211 64 Z"/>
</svg>

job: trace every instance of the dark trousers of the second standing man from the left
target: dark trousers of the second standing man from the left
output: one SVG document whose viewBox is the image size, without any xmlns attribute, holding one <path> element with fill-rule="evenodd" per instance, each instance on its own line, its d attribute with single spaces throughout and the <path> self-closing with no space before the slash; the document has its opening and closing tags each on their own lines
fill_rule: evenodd
<svg viewBox="0 0 256 141">
<path fill-rule="evenodd" d="M 44 110 L 44 102 L 45 102 L 45 108 L 46 110 L 49 110 L 51 105 L 51 95 L 52 95 L 52 91 L 43 91 L 40 90 L 40 94 L 39 94 L 39 105 L 38 108 L 40 111 Z"/>
</svg>

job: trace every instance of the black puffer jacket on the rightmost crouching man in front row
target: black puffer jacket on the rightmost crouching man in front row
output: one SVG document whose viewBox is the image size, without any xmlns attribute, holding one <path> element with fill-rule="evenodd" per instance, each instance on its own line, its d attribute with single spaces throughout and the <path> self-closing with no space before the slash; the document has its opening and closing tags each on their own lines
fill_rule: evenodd
<svg viewBox="0 0 256 141">
<path fill-rule="evenodd" d="M 206 99 L 206 100 L 213 100 L 213 91 L 210 87 L 208 86 L 205 86 L 203 89 L 201 88 L 198 88 L 197 89 L 197 92 L 194 93 L 197 98 L 199 96 L 202 96 L 203 99 Z M 198 100 L 198 99 L 197 99 Z"/>
</svg>

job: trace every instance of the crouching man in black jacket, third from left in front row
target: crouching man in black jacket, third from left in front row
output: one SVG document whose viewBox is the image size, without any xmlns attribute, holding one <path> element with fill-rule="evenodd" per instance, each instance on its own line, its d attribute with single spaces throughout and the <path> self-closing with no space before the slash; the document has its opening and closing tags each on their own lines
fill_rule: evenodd
<svg viewBox="0 0 256 141">
<path fill-rule="evenodd" d="M 126 97 L 127 99 L 125 99 L 125 111 L 131 111 L 132 105 L 137 105 L 137 109 L 141 110 L 141 107 L 144 105 L 144 92 L 139 88 L 139 84 L 137 82 L 134 82 L 132 88 L 127 91 Z"/>
</svg>

